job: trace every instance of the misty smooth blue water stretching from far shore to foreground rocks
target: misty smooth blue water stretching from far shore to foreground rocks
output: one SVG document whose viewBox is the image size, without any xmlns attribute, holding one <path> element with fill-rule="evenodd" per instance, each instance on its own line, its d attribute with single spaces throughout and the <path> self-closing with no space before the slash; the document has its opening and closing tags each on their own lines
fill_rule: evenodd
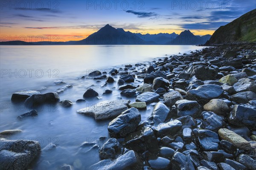
<svg viewBox="0 0 256 170">
<path fill-rule="evenodd" d="M 148 61 L 202 48 L 180 45 L 0 46 L 0 131 L 22 130 L 22 133 L 8 136 L 8 139 L 36 140 L 41 143 L 41 154 L 30 166 L 33 169 L 56 169 L 63 164 L 70 164 L 75 169 L 88 169 L 100 161 L 98 147 L 93 147 L 94 144 L 81 144 L 94 142 L 101 147 L 109 138 L 107 128 L 112 119 L 95 121 L 92 117 L 76 113 L 76 110 L 100 101 L 116 99 L 120 91 L 117 90 L 117 83 L 108 84 L 113 88 L 113 93 L 102 95 L 104 80 L 80 78 L 94 70 L 108 72 L 112 68 L 124 68 L 124 64 L 145 63 L 148 66 Z M 118 77 L 114 78 L 116 82 Z M 66 84 L 53 83 L 58 80 Z M 137 79 L 135 82 L 142 84 L 142 81 Z M 61 92 L 59 96 L 60 100 L 72 101 L 72 107 L 39 106 L 38 116 L 17 119 L 17 116 L 31 108 L 24 107 L 22 103 L 12 103 L 12 93 L 27 89 L 44 94 L 68 84 L 73 87 Z M 83 98 L 88 87 L 96 90 L 99 98 L 76 103 L 76 100 Z M 135 101 L 135 98 L 122 98 Z M 147 120 L 152 109 L 153 106 L 148 105 L 147 110 L 140 111 L 142 121 Z M 99 140 L 102 136 L 107 138 Z M 50 144 L 56 147 L 52 148 Z"/>
</svg>

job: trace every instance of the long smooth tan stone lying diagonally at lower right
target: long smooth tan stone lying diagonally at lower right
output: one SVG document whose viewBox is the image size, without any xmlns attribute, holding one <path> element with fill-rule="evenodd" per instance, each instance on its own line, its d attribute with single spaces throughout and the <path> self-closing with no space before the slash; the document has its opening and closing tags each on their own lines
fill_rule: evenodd
<svg viewBox="0 0 256 170">
<path fill-rule="evenodd" d="M 220 129 L 218 130 L 218 134 L 220 135 L 220 138 L 226 141 L 229 141 L 234 146 L 241 150 L 249 150 L 250 149 L 250 143 L 246 141 L 241 136 L 237 135 L 231 130 L 228 129 Z"/>
</svg>

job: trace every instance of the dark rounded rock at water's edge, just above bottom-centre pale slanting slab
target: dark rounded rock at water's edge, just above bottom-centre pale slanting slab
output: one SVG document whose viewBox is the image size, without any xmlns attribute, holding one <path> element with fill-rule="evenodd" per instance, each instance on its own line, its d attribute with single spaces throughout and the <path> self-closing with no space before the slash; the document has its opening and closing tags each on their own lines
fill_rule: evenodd
<svg viewBox="0 0 256 170">
<path fill-rule="evenodd" d="M 121 145 L 116 138 L 110 138 L 99 150 L 102 159 L 116 158 L 121 153 Z"/>
</svg>

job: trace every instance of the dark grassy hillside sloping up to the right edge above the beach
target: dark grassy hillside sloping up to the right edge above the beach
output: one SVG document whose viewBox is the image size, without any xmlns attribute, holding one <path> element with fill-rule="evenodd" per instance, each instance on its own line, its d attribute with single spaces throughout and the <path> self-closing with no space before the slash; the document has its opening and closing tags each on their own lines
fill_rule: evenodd
<svg viewBox="0 0 256 170">
<path fill-rule="evenodd" d="M 239 41 L 256 42 L 256 9 L 218 28 L 206 44 L 211 45 Z"/>
</svg>

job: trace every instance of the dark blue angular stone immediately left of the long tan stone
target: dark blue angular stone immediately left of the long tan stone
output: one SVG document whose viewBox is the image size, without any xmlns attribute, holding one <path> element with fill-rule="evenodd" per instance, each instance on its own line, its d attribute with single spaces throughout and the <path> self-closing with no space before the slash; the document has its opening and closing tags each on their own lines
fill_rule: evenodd
<svg viewBox="0 0 256 170">
<path fill-rule="evenodd" d="M 198 130 L 198 140 L 203 150 L 218 150 L 218 134 L 211 130 Z"/>
</svg>

